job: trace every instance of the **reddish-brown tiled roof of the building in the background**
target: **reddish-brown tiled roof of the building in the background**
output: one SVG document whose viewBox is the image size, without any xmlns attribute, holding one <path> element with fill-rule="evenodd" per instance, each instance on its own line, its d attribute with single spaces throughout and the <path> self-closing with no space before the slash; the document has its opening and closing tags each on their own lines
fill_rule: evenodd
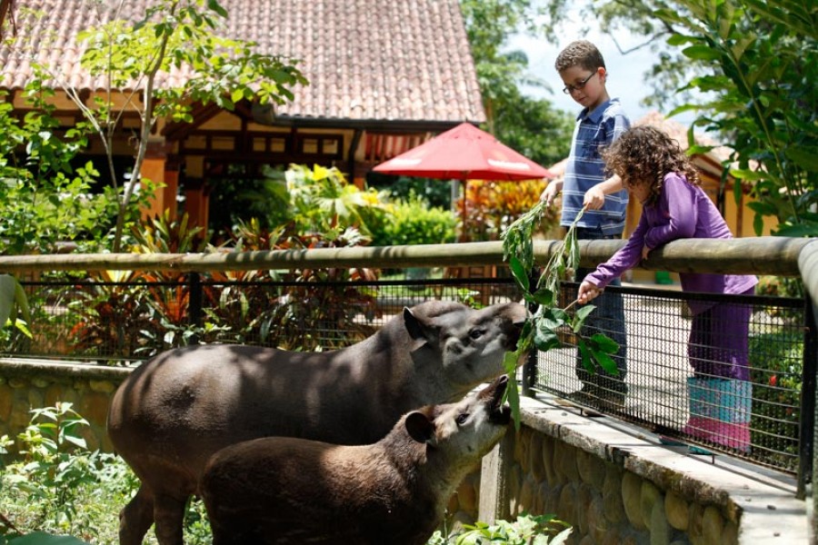
<svg viewBox="0 0 818 545">
<path fill-rule="evenodd" d="M 119 2 L 103 2 L 118 5 Z M 151 0 L 125 2 L 136 19 Z M 104 88 L 80 68 L 78 29 L 110 18 L 94 2 L 15 0 L 17 35 L 77 88 Z M 224 35 L 257 42 L 259 52 L 303 60 L 311 84 L 294 89 L 277 115 L 410 122 L 484 121 L 474 61 L 457 0 L 222 0 Z M 35 22 L 21 11 L 42 10 Z M 33 25 L 34 24 L 34 25 Z M 33 26 L 32 26 L 33 25 Z M 53 31 L 54 37 L 46 37 Z M 0 48 L 0 88 L 31 75 L 24 55 Z M 167 74 L 178 82 L 188 74 Z M 165 80 L 166 82 L 167 80 Z"/>
</svg>

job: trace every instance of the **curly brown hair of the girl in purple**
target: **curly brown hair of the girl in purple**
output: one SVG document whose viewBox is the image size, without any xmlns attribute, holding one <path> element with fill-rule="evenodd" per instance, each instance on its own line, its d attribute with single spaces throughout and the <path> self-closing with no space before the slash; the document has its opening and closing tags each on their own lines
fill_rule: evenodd
<svg viewBox="0 0 818 545">
<path fill-rule="evenodd" d="M 687 182 L 699 185 L 699 174 L 678 142 L 650 125 L 631 127 L 602 152 L 605 169 L 623 183 L 649 183 L 646 204 L 653 204 L 662 192 L 667 173 L 681 173 Z"/>
</svg>

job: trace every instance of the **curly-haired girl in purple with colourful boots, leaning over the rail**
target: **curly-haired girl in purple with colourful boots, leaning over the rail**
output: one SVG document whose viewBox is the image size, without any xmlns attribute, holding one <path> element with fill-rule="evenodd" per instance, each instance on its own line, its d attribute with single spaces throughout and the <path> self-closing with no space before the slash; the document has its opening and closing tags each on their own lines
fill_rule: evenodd
<svg viewBox="0 0 818 545">
<path fill-rule="evenodd" d="M 633 268 L 653 249 L 680 238 L 732 238 L 730 229 L 673 139 L 651 126 L 633 127 L 604 152 L 607 168 L 618 174 L 631 198 L 643 204 L 639 225 L 611 259 L 580 284 L 578 300 L 589 302 L 613 279 Z M 751 294 L 753 275 L 682 272 L 685 292 Z M 747 451 L 750 448 L 752 387 L 748 363 L 750 305 L 688 302 L 693 313 L 687 353 L 690 418 L 684 432 L 703 441 Z"/>
</svg>

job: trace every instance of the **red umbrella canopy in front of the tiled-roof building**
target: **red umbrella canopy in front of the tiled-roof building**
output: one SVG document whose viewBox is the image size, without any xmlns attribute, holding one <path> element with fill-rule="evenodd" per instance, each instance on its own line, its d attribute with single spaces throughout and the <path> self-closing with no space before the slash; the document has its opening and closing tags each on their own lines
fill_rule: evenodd
<svg viewBox="0 0 818 545">
<path fill-rule="evenodd" d="M 459 124 L 373 169 L 377 173 L 446 180 L 536 180 L 552 178 L 534 161 L 473 124 Z"/>
</svg>

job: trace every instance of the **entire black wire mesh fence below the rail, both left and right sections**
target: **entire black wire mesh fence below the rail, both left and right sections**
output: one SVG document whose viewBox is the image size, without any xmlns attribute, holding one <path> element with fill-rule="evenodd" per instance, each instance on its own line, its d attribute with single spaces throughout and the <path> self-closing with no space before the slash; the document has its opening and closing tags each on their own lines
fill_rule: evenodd
<svg viewBox="0 0 818 545">
<path fill-rule="evenodd" d="M 2 355 L 123 365 L 195 342 L 329 350 L 364 339 L 404 306 L 426 300 L 488 305 L 521 298 L 514 283 L 502 278 L 390 282 L 234 282 L 203 280 L 198 274 L 180 278 L 24 282 L 32 307 L 32 337 L 5 328 L 0 332 L 5 336 Z M 564 301 L 572 301 L 575 284 L 564 284 L 564 289 Z M 604 318 L 599 312 L 603 317 L 594 328 L 623 341 L 619 361 L 623 372 L 594 373 L 589 379 L 574 346 L 574 332 L 565 332 L 560 348 L 535 355 L 536 370 L 528 373 L 534 377 L 535 391 L 633 421 L 669 442 L 683 440 L 798 471 L 803 441 L 812 448 L 812 437 L 803 437 L 800 425 L 803 377 L 816 371 L 805 369 L 814 367 L 814 356 L 807 354 L 815 353 L 815 339 L 813 328 L 805 325 L 802 300 L 635 287 L 609 287 L 606 292 L 619 296 L 623 320 Z M 687 309 L 692 300 L 700 306 L 749 309 L 745 357 L 733 353 L 732 359 L 724 358 L 705 350 L 707 340 L 691 342 L 693 317 Z M 722 369 L 725 360 L 730 363 L 728 371 Z"/>
</svg>

